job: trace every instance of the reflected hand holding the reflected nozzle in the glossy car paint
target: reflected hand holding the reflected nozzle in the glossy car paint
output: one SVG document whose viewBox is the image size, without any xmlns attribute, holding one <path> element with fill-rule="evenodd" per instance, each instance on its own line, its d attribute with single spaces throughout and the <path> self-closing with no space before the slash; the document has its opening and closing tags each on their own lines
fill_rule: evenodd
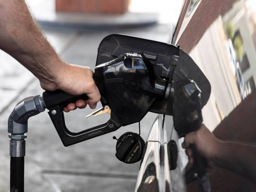
<svg viewBox="0 0 256 192">
<path fill-rule="evenodd" d="M 189 147 L 190 144 L 195 144 L 198 153 L 205 157 L 208 163 L 211 164 L 211 160 L 216 157 L 220 143 L 221 141 L 217 139 L 204 124 L 201 124 L 198 131 L 188 133 L 185 136 L 182 148 L 186 149 L 190 166 L 194 162 L 193 152 Z"/>
</svg>

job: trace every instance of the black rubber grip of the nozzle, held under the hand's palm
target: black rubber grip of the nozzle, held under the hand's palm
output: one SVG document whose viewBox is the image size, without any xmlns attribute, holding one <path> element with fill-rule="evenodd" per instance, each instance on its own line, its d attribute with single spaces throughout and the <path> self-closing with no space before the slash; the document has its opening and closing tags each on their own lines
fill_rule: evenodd
<svg viewBox="0 0 256 192">
<path fill-rule="evenodd" d="M 75 103 L 77 100 L 87 100 L 86 94 L 71 95 L 61 90 L 43 92 L 43 100 L 47 109 L 56 106 L 67 106 L 69 103 Z"/>
</svg>

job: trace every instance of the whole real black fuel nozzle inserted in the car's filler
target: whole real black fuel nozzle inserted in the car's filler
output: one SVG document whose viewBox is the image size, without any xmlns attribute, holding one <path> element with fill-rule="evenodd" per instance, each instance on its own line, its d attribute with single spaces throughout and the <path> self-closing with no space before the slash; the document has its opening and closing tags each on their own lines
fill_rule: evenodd
<svg viewBox="0 0 256 192">
<path fill-rule="evenodd" d="M 97 65 L 93 79 L 101 94 L 103 111 L 106 107 L 111 109 L 110 120 L 78 133 L 71 132 L 66 127 L 63 107 L 79 99 L 86 100 L 87 95 L 72 96 L 60 90 L 43 93 L 48 114 L 64 146 L 141 121 L 154 102 L 164 98 L 167 89 L 167 81 L 157 77 L 149 59 L 138 53 L 121 54 L 114 60 Z M 94 113 L 103 111 L 99 109 Z M 89 116 L 91 114 L 87 117 Z"/>
</svg>

